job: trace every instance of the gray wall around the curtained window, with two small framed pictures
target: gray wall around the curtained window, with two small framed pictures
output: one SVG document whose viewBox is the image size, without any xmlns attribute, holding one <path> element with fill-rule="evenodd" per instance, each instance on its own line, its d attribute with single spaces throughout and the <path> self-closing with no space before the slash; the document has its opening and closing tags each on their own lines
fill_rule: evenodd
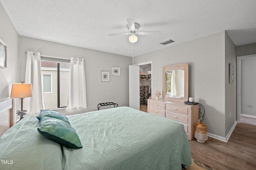
<svg viewBox="0 0 256 170">
<path fill-rule="evenodd" d="M 118 106 L 129 106 L 128 67 L 132 64 L 131 57 L 20 36 L 19 58 L 22 66 L 20 80 L 25 78 L 26 51 L 40 52 L 41 55 L 85 59 L 87 108 L 75 111 L 57 110 L 64 115 L 94 111 L 97 110 L 97 105 L 103 102 L 116 102 Z M 110 76 L 110 82 L 101 82 L 101 70 L 111 71 L 112 66 L 121 67 L 121 76 Z"/>
</svg>

